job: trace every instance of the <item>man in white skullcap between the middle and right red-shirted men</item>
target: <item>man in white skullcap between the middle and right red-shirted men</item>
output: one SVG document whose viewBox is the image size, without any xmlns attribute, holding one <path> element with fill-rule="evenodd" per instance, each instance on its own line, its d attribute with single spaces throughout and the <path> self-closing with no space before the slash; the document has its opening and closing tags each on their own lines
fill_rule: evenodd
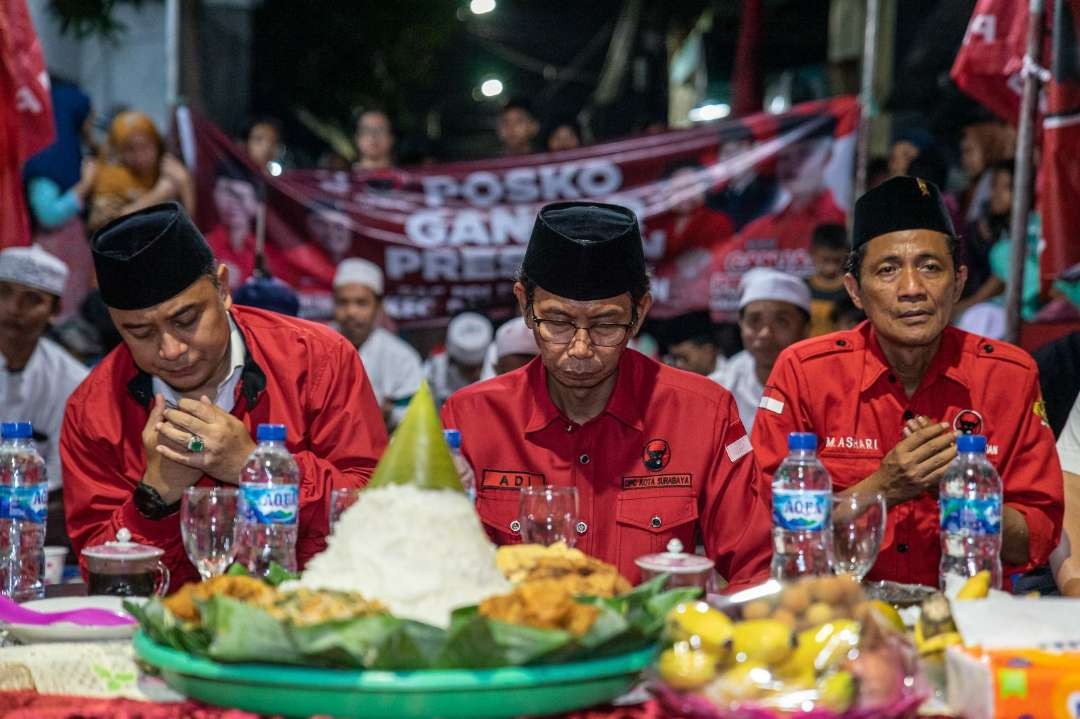
<svg viewBox="0 0 1080 719">
<path fill-rule="evenodd" d="M 771 268 L 755 268 L 739 284 L 744 349 L 710 379 L 734 395 L 748 434 L 773 363 L 784 348 L 807 337 L 810 289 L 799 277 Z"/>
</svg>

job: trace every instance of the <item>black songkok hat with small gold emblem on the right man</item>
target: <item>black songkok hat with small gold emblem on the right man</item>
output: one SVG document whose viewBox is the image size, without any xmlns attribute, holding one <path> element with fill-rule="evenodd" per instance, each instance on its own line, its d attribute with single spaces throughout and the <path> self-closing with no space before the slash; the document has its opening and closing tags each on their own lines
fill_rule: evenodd
<svg viewBox="0 0 1080 719">
<path fill-rule="evenodd" d="M 932 230 L 956 236 L 936 185 L 921 177 L 893 177 L 855 201 L 852 249 L 902 230 Z"/>
</svg>

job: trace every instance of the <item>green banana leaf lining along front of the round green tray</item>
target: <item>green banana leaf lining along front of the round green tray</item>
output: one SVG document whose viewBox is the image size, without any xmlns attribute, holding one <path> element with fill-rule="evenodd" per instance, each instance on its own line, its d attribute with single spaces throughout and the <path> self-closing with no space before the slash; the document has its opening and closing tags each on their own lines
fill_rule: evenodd
<svg viewBox="0 0 1080 719">
<path fill-rule="evenodd" d="M 508 624 L 476 607 L 454 612 L 447 630 L 389 614 L 294 626 L 224 596 L 200 602 L 202 625 L 179 622 L 161 600 L 125 603 L 157 642 L 224 662 L 266 662 L 369 669 L 495 668 L 598 659 L 654 642 L 667 613 L 700 591 L 663 591 L 658 576 L 615 598 L 579 597 L 599 610 L 575 638 L 559 629 Z"/>
</svg>

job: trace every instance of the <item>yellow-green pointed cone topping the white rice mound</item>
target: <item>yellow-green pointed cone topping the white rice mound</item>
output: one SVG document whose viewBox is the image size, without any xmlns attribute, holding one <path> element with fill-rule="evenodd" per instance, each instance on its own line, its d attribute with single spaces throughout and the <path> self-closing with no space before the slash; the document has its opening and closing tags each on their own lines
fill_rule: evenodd
<svg viewBox="0 0 1080 719">
<path fill-rule="evenodd" d="M 413 395 L 368 487 L 415 485 L 464 491 L 427 382 Z"/>
</svg>

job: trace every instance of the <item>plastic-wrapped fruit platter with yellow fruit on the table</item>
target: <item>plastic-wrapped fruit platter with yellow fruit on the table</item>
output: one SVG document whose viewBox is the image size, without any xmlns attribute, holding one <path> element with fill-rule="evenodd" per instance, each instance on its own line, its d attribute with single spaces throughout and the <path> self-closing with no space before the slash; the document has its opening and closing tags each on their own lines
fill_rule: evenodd
<svg viewBox="0 0 1080 719">
<path fill-rule="evenodd" d="M 680 717 L 900 718 L 930 694 L 895 610 L 846 576 L 684 602 L 666 642 L 658 693 Z"/>
</svg>

